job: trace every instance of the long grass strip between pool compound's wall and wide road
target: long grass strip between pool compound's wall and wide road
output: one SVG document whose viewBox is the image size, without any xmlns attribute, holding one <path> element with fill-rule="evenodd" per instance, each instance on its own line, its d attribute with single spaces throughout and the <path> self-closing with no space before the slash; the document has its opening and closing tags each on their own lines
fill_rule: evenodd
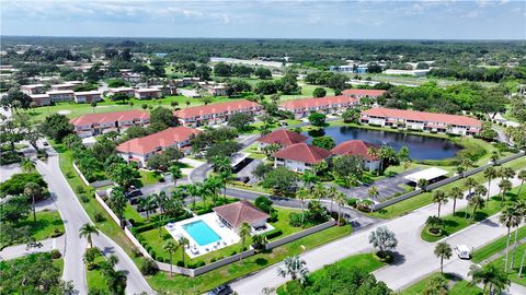
<svg viewBox="0 0 526 295">
<path fill-rule="evenodd" d="M 158 273 L 153 276 L 148 276 L 147 280 L 150 285 L 158 291 L 178 293 L 184 290 L 185 294 L 202 294 L 236 278 L 277 263 L 285 257 L 301 253 L 305 250 L 316 248 L 331 240 L 346 236 L 351 234 L 351 226 L 333 226 L 325 231 L 274 248 L 271 251 L 260 252 L 243 259 L 241 262 L 225 266 L 196 278 L 175 275 L 170 279 L 170 274 L 168 273 Z"/>
</svg>

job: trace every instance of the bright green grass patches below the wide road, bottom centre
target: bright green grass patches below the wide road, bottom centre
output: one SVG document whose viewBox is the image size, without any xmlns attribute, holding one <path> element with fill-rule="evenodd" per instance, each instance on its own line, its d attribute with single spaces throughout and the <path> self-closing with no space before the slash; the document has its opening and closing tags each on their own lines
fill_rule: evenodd
<svg viewBox="0 0 526 295">
<path fill-rule="evenodd" d="M 374 253 L 359 253 L 355 256 L 350 256 L 345 259 L 342 259 L 338 262 L 334 263 L 334 266 L 339 266 L 343 269 L 352 269 L 352 268 L 358 268 L 362 269 L 366 272 L 373 272 L 381 267 L 384 267 L 386 263 L 380 262 Z M 307 266 L 308 268 L 309 266 Z M 309 279 L 312 281 L 316 281 L 317 279 L 323 276 L 325 273 L 325 269 L 320 269 L 315 272 L 311 272 L 309 274 Z M 288 283 L 279 286 L 277 288 L 277 294 L 279 295 L 286 295 L 287 294 L 287 286 L 293 286 L 295 287 L 296 284 L 293 284 L 291 281 Z"/>
</svg>

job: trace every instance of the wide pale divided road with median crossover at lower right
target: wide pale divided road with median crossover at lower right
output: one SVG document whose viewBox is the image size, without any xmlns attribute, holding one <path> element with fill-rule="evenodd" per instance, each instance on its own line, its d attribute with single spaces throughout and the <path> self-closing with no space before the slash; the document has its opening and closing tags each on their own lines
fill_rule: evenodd
<svg viewBox="0 0 526 295">
<path fill-rule="evenodd" d="M 490 188 L 491 194 L 499 192 L 496 180 L 492 181 Z M 512 179 L 514 186 L 519 185 L 519 180 Z M 457 201 L 457 208 L 467 205 L 466 200 Z M 449 214 L 453 211 L 453 202 L 443 205 L 443 214 Z M 385 281 L 393 290 L 400 290 L 404 286 L 418 282 L 420 279 L 438 270 L 437 258 L 433 253 L 434 244 L 423 241 L 420 238 L 421 229 L 425 220 L 430 215 L 436 214 L 436 205 L 431 204 L 421 208 L 402 217 L 387 221 L 381 225 L 389 227 L 395 232 L 399 245 L 397 247 L 397 261 L 393 266 L 382 268 L 375 272 L 378 280 Z M 472 247 L 480 247 L 492 239 L 505 233 L 505 228 L 495 224 L 493 216 L 487 222 L 478 223 L 457 235 L 448 237 L 450 244 L 467 244 Z M 311 251 L 301 255 L 301 259 L 307 262 L 310 271 L 316 271 L 325 264 L 334 263 L 348 256 L 361 252 L 371 252 L 374 249 L 368 244 L 368 236 L 377 226 L 361 231 L 348 237 L 323 245 Z M 491 231 L 490 231 L 491 229 Z M 457 261 L 453 259 L 449 263 Z M 460 260 L 458 260 L 460 261 Z M 239 294 L 258 294 L 263 287 L 277 287 L 287 280 L 277 276 L 277 268 L 283 262 L 268 267 L 252 275 L 238 280 L 231 284 L 232 288 Z M 403 274 L 403 275 L 401 275 Z"/>
</svg>

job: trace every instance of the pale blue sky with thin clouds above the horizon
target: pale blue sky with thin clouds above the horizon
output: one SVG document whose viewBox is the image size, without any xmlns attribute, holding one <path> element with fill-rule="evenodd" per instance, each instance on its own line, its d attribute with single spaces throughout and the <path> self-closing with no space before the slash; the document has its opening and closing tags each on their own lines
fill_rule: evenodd
<svg viewBox="0 0 526 295">
<path fill-rule="evenodd" d="M 0 0 L 1 35 L 526 39 L 526 0 Z"/>
</svg>

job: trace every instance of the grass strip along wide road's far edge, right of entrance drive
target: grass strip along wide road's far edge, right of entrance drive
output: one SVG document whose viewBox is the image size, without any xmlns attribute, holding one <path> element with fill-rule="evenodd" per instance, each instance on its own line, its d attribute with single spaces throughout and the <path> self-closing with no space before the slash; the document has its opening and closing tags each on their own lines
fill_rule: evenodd
<svg viewBox="0 0 526 295">
<path fill-rule="evenodd" d="M 503 167 L 512 167 L 514 169 L 523 168 L 526 166 L 526 157 L 519 157 L 517 160 L 514 160 L 512 162 L 508 162 L 504 165 Z M 478 173 L 472 177 L 477 182 L 482 184 L 487 182 L 484 176 L 482 173 Z M 496 180 L 493 180 L 495 182 Z M 451 184 L 448 184 L 446 186 L 441 187 L 439 189 L 443 191 L 447 191 L 451 189 L 453 187 L 462 187 L 464 185 L 464 179 L 454 181 Z M 401 202 L 398 202 L 396 204 L 386 206 L 381 210 L 378 210 L 376 212 L 369 213 L 371 216 L 379 217 L 379 219 L 392 219 L 392 217 L 398 217 L 401 215 L 404 215 L 413 210 L 416 210 L 419 208 L 422 208 L 424 205 L 431 204 L 433 202 L 432 199 L 433 192 L 424 192 L 419 196 L 415 196 L 413 198 L 410 198 L 408 200 L 403 200 Z"/>
</svg>

